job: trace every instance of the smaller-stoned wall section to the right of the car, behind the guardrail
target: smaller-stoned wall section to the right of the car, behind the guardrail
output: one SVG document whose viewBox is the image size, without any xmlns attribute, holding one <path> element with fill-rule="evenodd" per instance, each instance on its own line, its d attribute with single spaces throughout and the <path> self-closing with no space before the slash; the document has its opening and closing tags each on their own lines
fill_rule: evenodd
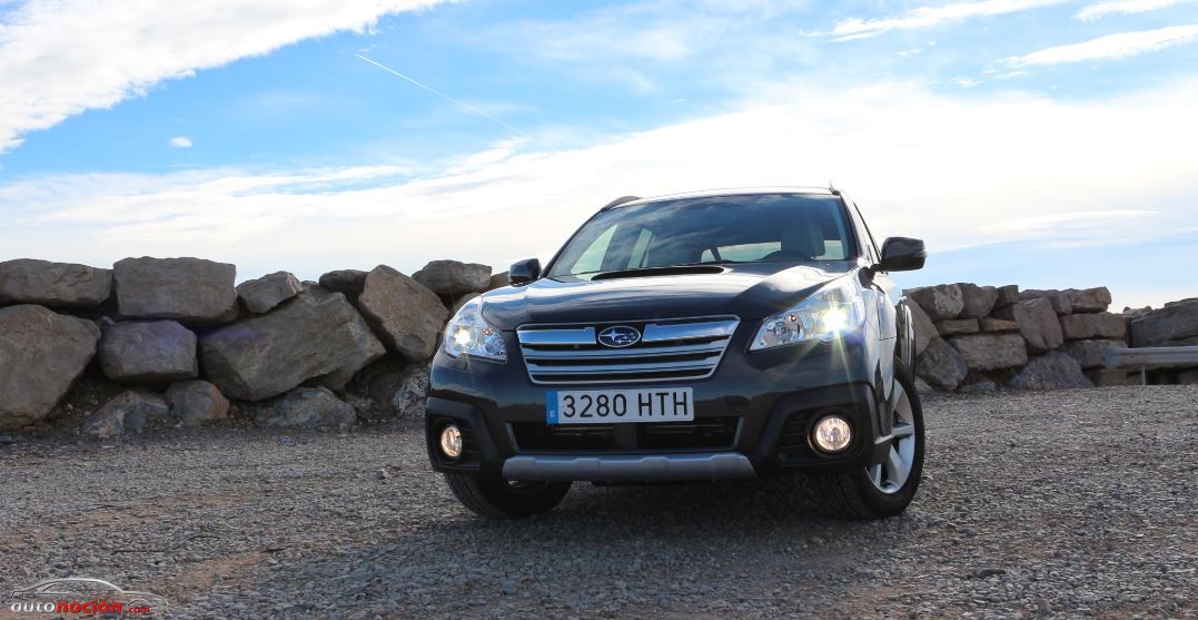
<svg viewBox="0 0 1198 620">
<path fill-rule="evenodd" d="M 1103 366 L 1117 347 L 1198 344 L 1198 299 L 1108 312 L 1106 287 L 1019 290 L 939 284 L 903 291 L 915 324 L 915 374 L 943 391 L 1125 385 L 1138 369 Z M 1198 383 L 1194 369 L 1154 369 L 1152 383 Z"/>
</svg>

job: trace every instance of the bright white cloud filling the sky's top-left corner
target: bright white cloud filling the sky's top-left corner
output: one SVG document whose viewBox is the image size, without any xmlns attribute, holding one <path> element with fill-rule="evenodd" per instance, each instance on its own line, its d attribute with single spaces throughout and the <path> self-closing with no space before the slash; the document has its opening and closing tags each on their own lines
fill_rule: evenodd
<svg viewBox="0 0 1198 620">
<path fill-rule="evenodd" d="M 442 0 L 28 0 L 0 16 L 0 152 L 156 84 Z"/>
</svg>

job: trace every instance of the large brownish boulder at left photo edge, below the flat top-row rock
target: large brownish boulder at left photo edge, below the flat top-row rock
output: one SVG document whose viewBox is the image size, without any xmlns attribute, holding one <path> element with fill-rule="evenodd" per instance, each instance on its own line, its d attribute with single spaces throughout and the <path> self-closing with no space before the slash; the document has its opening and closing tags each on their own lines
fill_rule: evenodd
<svg viewBox="0 0 1198 620">
<path fill-rule="evenodd" d="M 50 413 L 96 355 L 99 327 L 41 306 L 0 308 L 0 428 Z"/>
</svg>

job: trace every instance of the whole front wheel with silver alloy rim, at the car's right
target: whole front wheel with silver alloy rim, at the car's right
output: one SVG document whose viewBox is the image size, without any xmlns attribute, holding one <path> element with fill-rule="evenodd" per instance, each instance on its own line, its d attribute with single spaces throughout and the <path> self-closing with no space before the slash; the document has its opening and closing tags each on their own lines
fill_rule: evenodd
<svg viewBox="0 0 1198 620">
<path fill-rule="evenodd" d="M 924 472 L 924 409 L 909 373 L 896 365 L 894 431 L 882 463 L 861 470 L 812 476 L 812 492 L 833 514 L 883 519 L 902 513 Z M 885 407 L 885 404 L 883 404 Z"/>
</svg>

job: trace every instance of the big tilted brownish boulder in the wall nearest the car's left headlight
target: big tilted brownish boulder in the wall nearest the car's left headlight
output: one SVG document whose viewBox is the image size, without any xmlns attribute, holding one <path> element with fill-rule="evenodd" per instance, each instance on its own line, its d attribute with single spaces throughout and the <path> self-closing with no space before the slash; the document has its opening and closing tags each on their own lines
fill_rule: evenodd
<svg viewBox="0 0 1198 620">
<path fill-rule="evenodd" d="M 449 311 L 428 287 L 387 265 L 379 265 L 367 276 L 358 307 L 387 347 L 410 361 L 432 356 L 441 326 L 449 318 Z"/>
</svg>

